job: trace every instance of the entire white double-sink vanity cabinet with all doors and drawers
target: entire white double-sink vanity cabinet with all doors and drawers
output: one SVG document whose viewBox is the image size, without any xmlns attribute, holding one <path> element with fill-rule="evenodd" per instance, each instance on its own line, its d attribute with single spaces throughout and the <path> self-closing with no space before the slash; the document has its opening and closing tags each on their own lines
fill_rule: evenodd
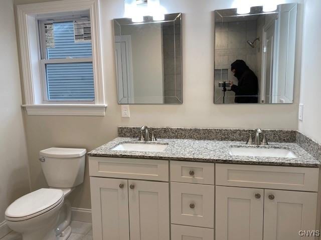
<svg viewBox="0 0 321 240">
<path fill-rule="evenodd" d="M 89 174 L 95 240 L 312 240 L 299 230 L 318 230 L 319 168 L 90 156 Z"/>
</svg>

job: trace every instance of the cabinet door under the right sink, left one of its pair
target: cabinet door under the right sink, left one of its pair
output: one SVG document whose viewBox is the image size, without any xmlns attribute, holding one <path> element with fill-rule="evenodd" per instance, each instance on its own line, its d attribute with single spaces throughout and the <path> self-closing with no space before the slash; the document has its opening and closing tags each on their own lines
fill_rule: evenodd
<svg viewBox="0 0 321 240">
<path fill-rule="evenodd" d="M 215 239 L 262 239 L 263 189 L 216 186 L 215 194 Z"/>
</svg>

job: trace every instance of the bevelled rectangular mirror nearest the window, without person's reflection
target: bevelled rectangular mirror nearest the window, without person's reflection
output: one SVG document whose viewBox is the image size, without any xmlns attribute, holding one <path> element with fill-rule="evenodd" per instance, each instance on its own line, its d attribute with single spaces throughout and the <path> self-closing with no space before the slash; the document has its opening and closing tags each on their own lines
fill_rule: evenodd
<svg viewBox="0 0 321 240">
<path fill-rule="evenodd" d="M 114 19 L 114 40 L 119 104 L 183 103 L 181 13 Z"/>
</svg>

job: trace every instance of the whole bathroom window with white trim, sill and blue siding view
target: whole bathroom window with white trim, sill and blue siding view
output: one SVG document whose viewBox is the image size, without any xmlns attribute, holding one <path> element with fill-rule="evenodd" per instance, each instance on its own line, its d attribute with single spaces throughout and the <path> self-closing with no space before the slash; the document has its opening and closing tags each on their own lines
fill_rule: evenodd
<svg viewBox="0 0 321 240">
<path fill-rule="evenodd" d="M 27 113 L 105 115 L 98 1 L 22 4 L 17 15 Z"/>
</svg>

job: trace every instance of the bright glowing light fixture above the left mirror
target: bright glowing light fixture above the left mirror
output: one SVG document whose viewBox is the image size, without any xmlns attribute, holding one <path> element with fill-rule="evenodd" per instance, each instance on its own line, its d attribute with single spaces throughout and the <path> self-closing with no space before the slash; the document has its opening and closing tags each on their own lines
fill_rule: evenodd
<svg viewBox="0 0 321 240">
<path fill-rule="evenodd" d="M 125 0 L 125 17 L 132 22 L 142 22 L 143 16 L 152 16 L 154 21 L 165 19 L 166 9 L 159 0 Z"/>
</svg>

